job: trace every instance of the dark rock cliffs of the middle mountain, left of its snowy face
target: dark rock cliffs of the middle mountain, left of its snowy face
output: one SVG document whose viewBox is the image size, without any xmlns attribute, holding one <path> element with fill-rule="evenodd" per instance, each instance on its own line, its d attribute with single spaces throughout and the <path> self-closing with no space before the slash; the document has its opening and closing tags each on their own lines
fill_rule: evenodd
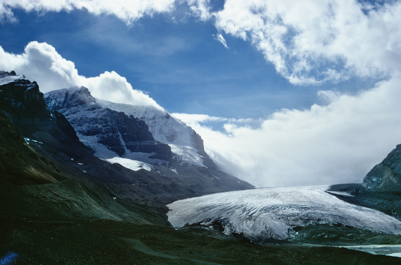
<svg viewBox="0 0 401 265">
<path fill-rule="evenodd" d="M 110 154 L 97 150 L 99 143 L 122 156 L 131 152 L 148 153 L 150 158 L 169 160 L 173 155 L 168 145 L 157 142 L 148 126 L 134 116 L 103 108 L 85 87 L 71 87 L 46 93 L 46 103 L 69 120 L 85 144 L 97 151 L 97 156 Z M 92 146 L 91 146 L 92 144 Z"/>
</svg>

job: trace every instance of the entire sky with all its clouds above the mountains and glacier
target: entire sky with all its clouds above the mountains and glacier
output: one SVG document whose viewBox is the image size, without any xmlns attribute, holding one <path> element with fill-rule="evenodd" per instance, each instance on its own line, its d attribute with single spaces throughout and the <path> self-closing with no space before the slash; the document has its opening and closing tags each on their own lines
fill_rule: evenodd
<svg viewBox="0 0 401 265">
<path fill-rule="evenodd" d="M 0 68 L 160 105 L 261 186 L 361 182 L 401 143 L 401 1 L 111 3 L 0 0 Z"/>
</svg>

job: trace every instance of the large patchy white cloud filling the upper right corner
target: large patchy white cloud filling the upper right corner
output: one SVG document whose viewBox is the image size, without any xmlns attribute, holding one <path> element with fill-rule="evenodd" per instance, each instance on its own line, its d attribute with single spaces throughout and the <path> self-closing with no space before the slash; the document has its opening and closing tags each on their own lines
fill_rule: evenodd
<svg viewBox="0 0 401 265">
<path fill-rule="evenodd" d="M 218 30 L 250 40 L 294 84 L 393 75 L 401 60 L 401 3 L 366 12 L 356 1 L 227 0 Z"/>
</svg>

